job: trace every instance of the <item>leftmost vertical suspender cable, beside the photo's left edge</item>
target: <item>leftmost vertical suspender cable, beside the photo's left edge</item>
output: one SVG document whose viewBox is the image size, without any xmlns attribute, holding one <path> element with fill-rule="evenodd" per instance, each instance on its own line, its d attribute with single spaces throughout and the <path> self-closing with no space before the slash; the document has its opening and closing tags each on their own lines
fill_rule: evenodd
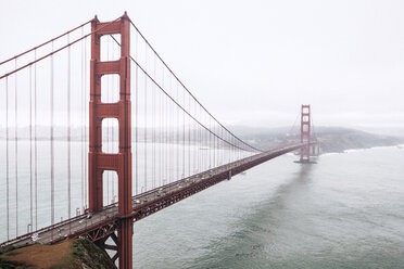
<svg viewBox="0 0 404 269">
<path fill-rule="evenodd" d="M 7 240 L 10 240 L 10 159 L 9 159 L 9 77 L 5 77 L 5 184 L 7 184 Z"/>
</svg>

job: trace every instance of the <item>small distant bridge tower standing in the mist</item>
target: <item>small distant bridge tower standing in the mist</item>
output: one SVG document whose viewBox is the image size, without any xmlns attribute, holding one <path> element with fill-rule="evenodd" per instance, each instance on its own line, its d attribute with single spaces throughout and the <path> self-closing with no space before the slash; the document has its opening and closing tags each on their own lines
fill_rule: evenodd
<svg viewBox="0 0 404 269">
<path fill-rule="evenodd" d="M 311 143 L 311 110 L 310 104 L 302 104 L 300 142 Z M 311 146 L 304 146 L 300 150 L 300 163 L 310 163 Z"/>
</svg>

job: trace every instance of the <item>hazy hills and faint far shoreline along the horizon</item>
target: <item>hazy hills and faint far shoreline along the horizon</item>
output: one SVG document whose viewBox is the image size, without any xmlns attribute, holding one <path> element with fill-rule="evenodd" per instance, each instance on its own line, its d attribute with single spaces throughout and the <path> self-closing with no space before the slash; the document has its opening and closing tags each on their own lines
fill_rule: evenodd
<svg viewBox="0 0 404 269">
<path fill-rule="evenodd" d="M 188 127 L 187 127 L 188 128 Z M 154 141 L 166 142 L 166 143 L 177 143 L 178 140 L 182 141 L 182 132 L 176 130 L 182 130 L 182 128 L 173 129 L 171 132 L 161 132 L 155 130 Z M 192 129 L 191 129 L 192 130 Z M 288 143 L 293 143 L 300 140 L 300 129 L 299 127 L 287 128 L 263 128 L 263 127 L 247 127 L 247 126 L 230 126 L 231 130 L 236 136 L 247 141 L 248 143 L 263 150 L 274 149 Z M 138 141 L 139 142 L 152 142 L 152 129 L 148 129 L 144 137 L 144 128 L 138 129 Z M 5 128 L 0 127 L 0 139 L 5 139 Z M 135 142 L 136 129 L 132 128 L 132 142 Z M 315 127 L 312 129 L 312 136 L 317 138 L 320 143 L 320 152 L 343 152 L 351 149 L 369 149 L 374 146 L 387 146 L 396 145 L 404 143 L 404 136 L 388 136 L 378 134 L 367 131 L 342 128 L 342 127 Z M 9 128 L 9 139 L 14 140 L 14 129 Z M 188 140 L 188 132 L 185 133 Z M 34 136 L 34 130 L 33 130 Z M 72 127 L 71 130 L 72 141 L 81 141 L 88 137 L 88 132 L 81 127 Z M 105 136 L 105 133 L 104 133 Z M 38 126 L 37 127 L 37 140 L 49 140 L 50 138 L 50 127 L 49 126 Z M 65 126 L 54 127 L 54 140 L 67 140 L 67 128 Z M 205 137 L 207 139 L 207 137 Z M 29 127 L 18 128 L 18 140 L 29 139 Z M 117 141 L 118 132 L 115 128 L 114 134 L 109 132 L 110 141 Z M 191 143 L 194 142 L 194 138 L 191 137 Z M 207 145 L 207 144 L 206 144 Z"/>
</svg>

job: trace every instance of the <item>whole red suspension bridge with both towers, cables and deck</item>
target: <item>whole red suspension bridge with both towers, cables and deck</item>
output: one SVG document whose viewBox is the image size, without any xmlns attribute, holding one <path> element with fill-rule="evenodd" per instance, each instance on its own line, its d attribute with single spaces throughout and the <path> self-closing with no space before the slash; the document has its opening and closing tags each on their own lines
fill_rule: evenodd
<svg viewBox="0 0 404 269">
<path fill-rule="evenodd" d="M 84 236 L 132 268 L 135 221 L 282 154 L 310 163 L 317 143 L 310 105 L 293 140 L 240 139 L 126 13 L 1 62 L 0 89 L 2 249 Z"/>
</svg>

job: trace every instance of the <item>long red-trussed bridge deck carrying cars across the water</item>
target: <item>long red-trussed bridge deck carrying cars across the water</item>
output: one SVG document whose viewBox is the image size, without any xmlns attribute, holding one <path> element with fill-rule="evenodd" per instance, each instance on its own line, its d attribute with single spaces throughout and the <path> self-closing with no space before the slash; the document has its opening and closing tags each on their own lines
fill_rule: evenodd
<svg viewBox="0 0 404 269">
<path fill-rule="evenodd" d="M 223 180 L 229 179 L 231 176 L 304 145 L 299 143 L 260 153 L 135 195 L 132 197 L 134 209 L 130 217 L 135 222 Z M 35 242 L 31 240 L 34 233 L 27 233 L 2 243 L 1 248 L 8 249 L 33 243 L 48 244 L 66 238 L 77 236 L 88 236 L 92 241 L 96 241 L 108 236 L 117 229 L 119 221 L 117 203 L 104 207 L 102 212 L 92 214 L 91 218 L 88 218 L 88 214 L 84 214 L 42 228 L 34 232 L 38 234 L 38 239 Z"/>
</svg>

